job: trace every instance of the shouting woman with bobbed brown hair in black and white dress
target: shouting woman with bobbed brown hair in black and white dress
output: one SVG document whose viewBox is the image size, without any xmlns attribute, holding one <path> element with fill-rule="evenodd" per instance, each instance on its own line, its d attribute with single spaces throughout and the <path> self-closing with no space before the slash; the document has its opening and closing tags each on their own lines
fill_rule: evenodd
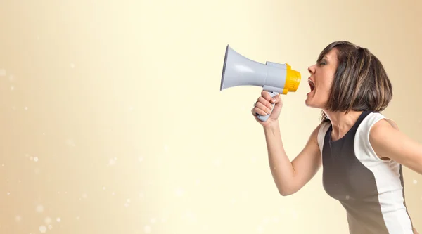
<svg viewBox="0 0 422 234">
<path fill-rule="evenodd" d="M 380 113 L 392 98 L 381 62 L 366 48 L 336 41 L 308 70 L 305 103 L 322 110 L 322 121 L 292 162 L 277 120 L 281 98 L 263 91 L 252 109 L 279 193 L 296 193 L 322 165 L 324 190 L 345 207 L 350 233 L 417 233 L 404 202 L 402 165 L 422 174 L 422 145 Z M 267 122 L 256 117 L 270 112 Z"/>
</svg>

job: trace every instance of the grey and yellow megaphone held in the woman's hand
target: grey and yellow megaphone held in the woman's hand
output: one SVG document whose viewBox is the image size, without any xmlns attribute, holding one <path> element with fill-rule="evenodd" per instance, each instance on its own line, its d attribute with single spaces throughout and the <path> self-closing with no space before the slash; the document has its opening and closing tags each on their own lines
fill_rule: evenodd
<svg viewBox="0 0 422 234">
<path fill-rule="evenodd" d="M 220 91 L 234 86 L 260 86 L 274 97 L 295 92 L 300 79 L 300 72 L 292 70 L 287 63 L 258 63 L 226 46 Z M 257 118 L 266 122 L 269 115 L 257 115 Z"/>
</svg>

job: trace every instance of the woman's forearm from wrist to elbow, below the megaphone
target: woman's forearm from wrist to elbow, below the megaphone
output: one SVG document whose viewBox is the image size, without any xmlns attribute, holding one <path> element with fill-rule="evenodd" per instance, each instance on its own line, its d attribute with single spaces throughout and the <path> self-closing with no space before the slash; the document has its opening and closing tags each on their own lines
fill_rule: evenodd
<svg viewBox="0 0 422 234">
<path fill-rule="evenodd" d="M 267 141 L 269 167 L 274 182 L 281 195 L 289 195 L 293 193 L 295 170 L 284 150 L 279 122 L 274 122 L 271 126 L 264 126 L 264 134 Z"/>
</svg>

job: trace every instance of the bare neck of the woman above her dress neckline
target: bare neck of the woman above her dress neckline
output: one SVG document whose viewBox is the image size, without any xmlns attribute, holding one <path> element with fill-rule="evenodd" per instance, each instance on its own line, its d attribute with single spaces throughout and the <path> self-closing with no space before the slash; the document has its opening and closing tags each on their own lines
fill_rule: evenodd
<svg viewBox="0 0 422 234">
<path fill-rule="evenodd" d="M 331 121 L 333 131 L 331 138 L 333 141 L 338 140 L 345 136 L 352 126 L 357 122 L 357 119 L 362 114 L 362 111 L 350 110 L 347 114 L 345 112 L 330 112 L 325 111 L 326 116 Z"/>
</svg>

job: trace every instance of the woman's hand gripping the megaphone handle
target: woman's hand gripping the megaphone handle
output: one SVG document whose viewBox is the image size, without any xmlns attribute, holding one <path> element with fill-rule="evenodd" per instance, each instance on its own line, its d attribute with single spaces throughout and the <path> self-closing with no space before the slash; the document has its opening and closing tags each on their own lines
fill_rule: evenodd
<svg viewBox="0 0 422 234">
<path fill-rule="evenodd" d="M 274 108 L 272 108 L 272 103 L 276 104 L 274 105 Z M 259 122 L 262 126 L 269 126 L 270 124 L 276 122 L 277 119 L 279 119 L 282 107 L 283 101 L 281 100 L 280 95 L 276 95 L 271 98 L 268 91 L 262 91 L 261 96 L 258 98 L 254 108 L 252 108 L 251 111 L 252 115 L 255 117 L 257 122 Z M 271 112 L 271 115 L 269 115 L 269 118 L 266 122 L 262 122 L 260 119 L 257 118 L 257 114 L 268 115 L 269 112 Z"/>
</svg>

